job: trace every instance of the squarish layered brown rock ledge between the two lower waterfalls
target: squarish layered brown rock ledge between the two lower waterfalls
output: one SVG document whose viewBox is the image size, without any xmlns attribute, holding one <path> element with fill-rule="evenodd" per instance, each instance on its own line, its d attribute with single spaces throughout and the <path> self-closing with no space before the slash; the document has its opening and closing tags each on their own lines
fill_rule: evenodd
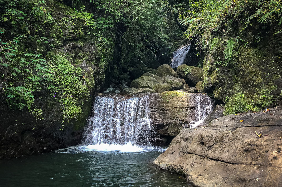
<svg viewBox="0 0 282 187">
<path fill-rule="evenodd" d="M 176 136 L 183 124 L 195 120 L 195 98 L 191 93 L 166 91 L 150 95 L 152 124 L 161 136 Z"/>
</svg>

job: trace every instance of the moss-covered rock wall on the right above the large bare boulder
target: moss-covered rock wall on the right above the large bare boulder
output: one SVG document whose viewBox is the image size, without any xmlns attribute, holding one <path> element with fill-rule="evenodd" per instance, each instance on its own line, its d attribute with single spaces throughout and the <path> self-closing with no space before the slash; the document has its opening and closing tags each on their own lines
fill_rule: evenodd
<svg viewBox="0 0 282 187">
<path fill-rule="evenodd" d="M 235 49 L 227 61 L 224 50 L 231 40 Z M 273 35 L 272 28 L 257 25 L 240 35 L 235 32 L 228 37 L 214 37 L 213 43 L 217 45 L 204 60 L 204 89 L 218 101 L 228 103 L 225 114 L 281 104 L 281 35 Z M 238 98 L 241 94 L 248 104 Z"/>
</svg>

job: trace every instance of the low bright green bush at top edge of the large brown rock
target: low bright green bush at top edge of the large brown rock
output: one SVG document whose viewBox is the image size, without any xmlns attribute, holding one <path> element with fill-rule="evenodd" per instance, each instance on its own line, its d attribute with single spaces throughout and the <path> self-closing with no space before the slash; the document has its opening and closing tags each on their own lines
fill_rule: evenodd
<svg viewBox="0 0 282 187">
<path fill-rule="evenodd" d="M 227 98 L 226 98 L 227 99 Z M 243 93 L 237 93 L 229 98 L 225 105 L 224 115 L 243 113 L 247 111 L 258 111 L 255 102 L 246 98 Z"/>
</svg>

